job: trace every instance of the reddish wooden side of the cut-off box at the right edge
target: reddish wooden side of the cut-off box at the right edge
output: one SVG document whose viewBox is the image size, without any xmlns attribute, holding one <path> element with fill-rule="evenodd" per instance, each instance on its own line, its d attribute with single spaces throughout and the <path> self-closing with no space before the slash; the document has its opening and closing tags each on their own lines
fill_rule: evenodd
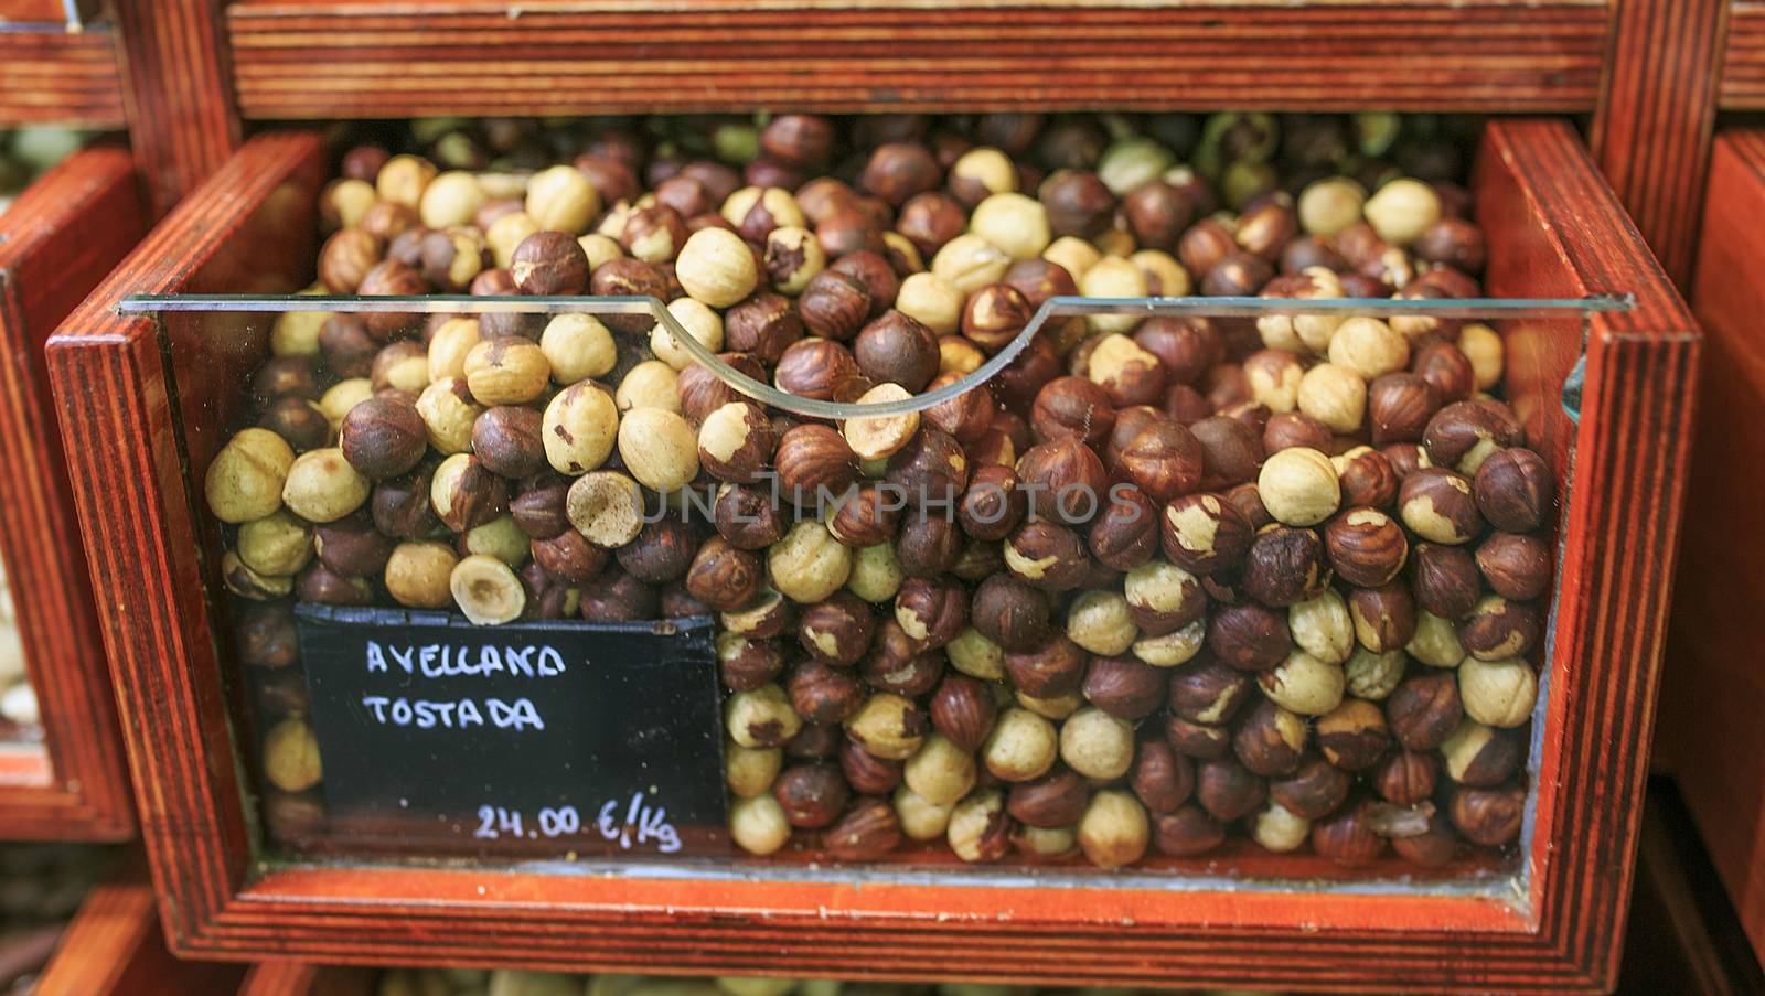
<svg viewBox="0 0 1765 996">
<path fill-rule="evenodd" d="M 1765 132 L 1717 138 L 1693 307 L 1710 336 L 1686 547 L 1661 696 L 1661 752 L 1728 894 L 1765 955 L 1765 683 L 1747 620 L 1765 613 L 1758 502 L 1765 452 Z"/>
</svg>

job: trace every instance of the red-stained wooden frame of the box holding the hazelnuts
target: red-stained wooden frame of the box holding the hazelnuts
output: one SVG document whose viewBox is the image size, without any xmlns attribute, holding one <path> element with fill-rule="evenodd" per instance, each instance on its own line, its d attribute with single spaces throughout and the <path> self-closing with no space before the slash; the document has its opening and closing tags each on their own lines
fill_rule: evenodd
<svg viewBox="0 0 1765 996">
<path fill-rule="evenodd" d="M 291 291 L 311 279 L 319 138 L 251 140 L 94 291 L 49 346 L 129 717 L 143 834 L 176 952 L 222 959 L 789 973 L 1343 991 L 1597 991 L 1619 959 L 1641 816 L 1700 336 L 1564 122 L 1498 122 L 1476 170 L 1491 297 L 1629 293 L 1507 320 L 1509 385 L 1566 493 L 1548 696 L 1521 871 L 1348 879 L 1313 856 L 1191 878 L 1050 885 L 890 867 L 288 860 L 263 849 L 229 735 L 208 461 L 261 336 L 242 314 L 118 314 L 134 293 Z M 1585 337 L 1583 337 L 1585 332 Z M 1585 353 L 1583 353 L 1585 350 Z M 1585 355 L 1576 426 L 1562 389 Z M 242 742 L 245 736 L 242 735 Z M 1331 879 L 1331 881 L 1320 881 Z"/>
</svg>

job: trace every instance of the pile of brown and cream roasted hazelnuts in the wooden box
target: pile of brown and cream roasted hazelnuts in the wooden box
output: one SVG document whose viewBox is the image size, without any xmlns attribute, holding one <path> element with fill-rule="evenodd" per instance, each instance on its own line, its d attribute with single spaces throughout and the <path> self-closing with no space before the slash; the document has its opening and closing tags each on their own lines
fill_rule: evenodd
<svg viewBox="0 0 1765 996">
<path fill-rule="evenodd" d="M 1398 124 L 1137 124 L 780 115 L 741 168 L 618 127 L 531 173 L 357 148 L 318 290 L 655 297 L 837 403 L 955 383 L 1059 295 L 1479 293 L 1465 192 L 1368 152 Z M 1527 800 L 1553 473 L 1500 380 L 1476 321 L 1140 311 L 822 422 L 648 314 L 291 313 L 207 494 L 265 671 L 298 675 L 297 599 L 715 616 L 754 855 L 1119 867 L 1239 832 L 1440 865 Z M 272 687 L 298 796 L 318 747 Z"/>
</svg>

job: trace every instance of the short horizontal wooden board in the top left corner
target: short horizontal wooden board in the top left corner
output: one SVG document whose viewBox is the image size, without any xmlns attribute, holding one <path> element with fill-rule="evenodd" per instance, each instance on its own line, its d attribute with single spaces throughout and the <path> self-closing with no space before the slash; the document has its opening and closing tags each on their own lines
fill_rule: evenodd
<svg viewBox="0 0 1765 996">
<path fill-rule="evenodd" d="M 104 25 L 0 25 L 0 125 L 124 127 L 115 41 Z"/>
</svg>

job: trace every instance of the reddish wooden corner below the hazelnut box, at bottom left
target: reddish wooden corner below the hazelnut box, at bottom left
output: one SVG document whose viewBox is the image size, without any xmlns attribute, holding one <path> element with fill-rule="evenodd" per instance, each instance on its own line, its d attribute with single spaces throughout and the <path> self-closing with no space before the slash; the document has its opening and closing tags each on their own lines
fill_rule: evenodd
<svg viewBox="0 0 1765 996">
<path fill-rule="evenodd" d="M 178 961 L 166 950 L 146 874 L 132 869 L 86 895 L 34 996 L 196 996 L 231 992 L 235 964 Z"/>
</svg>

